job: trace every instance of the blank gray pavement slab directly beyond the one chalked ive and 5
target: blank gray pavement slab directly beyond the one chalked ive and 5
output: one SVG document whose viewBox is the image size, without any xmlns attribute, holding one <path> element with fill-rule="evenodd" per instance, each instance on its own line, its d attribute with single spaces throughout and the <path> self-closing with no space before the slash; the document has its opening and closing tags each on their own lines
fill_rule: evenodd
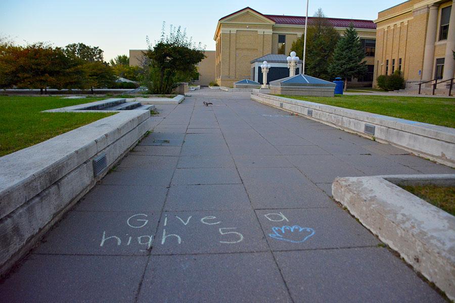
<svg viewBox="0 0 455 303">
<path fill-rule="evenodd" d="M 176 185 L 171 186 L 164 210 L 251 210 L 243 184 Z"/>
</svg>

